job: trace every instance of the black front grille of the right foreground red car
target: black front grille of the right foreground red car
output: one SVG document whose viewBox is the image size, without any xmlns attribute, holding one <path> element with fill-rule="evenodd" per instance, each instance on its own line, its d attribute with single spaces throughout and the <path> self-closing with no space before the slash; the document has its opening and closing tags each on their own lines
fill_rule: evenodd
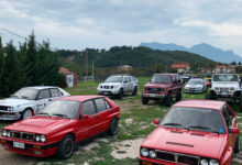
<svg viewBox="0 0 242 165">
<path fill-rule="evenodd" d="M 165 151 L 156 151 L 156 158 L 161 161 L 185 164 L 185 165 L 199 165 L 200 157 L 193 155 L 185 155 L 179 153 L 172 153 Z"/>
</svg>

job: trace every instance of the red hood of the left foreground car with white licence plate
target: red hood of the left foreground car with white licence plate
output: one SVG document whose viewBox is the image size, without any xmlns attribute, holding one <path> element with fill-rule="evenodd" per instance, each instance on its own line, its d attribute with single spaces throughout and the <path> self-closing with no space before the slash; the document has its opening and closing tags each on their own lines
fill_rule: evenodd
<svg viewBox="0 0 242 165">
<path fill-rule="evenodd" d="M 33 117 L 30 119 L 18 121 L 13 124 L 6 127 L 7 130 L 47 134 L 52 131 L 57 131 L 59 128 L 73 123 L 74 120 L 64 118 L 50 118 L 50 117 Z"/>
</svg>

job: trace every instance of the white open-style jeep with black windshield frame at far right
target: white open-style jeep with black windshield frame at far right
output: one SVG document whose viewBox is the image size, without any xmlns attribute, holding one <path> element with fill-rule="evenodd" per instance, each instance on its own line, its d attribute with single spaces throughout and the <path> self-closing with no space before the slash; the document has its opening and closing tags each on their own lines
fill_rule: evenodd
<svg viewBox="0 0 242 165">
<path fill-rule="evenodd" d="M 237 74 L 213 74 L 211 84 L 206 99 L 222 99 L 234 102 L 239 100 L 242 109 L 241 86 Z"/>
</svg>

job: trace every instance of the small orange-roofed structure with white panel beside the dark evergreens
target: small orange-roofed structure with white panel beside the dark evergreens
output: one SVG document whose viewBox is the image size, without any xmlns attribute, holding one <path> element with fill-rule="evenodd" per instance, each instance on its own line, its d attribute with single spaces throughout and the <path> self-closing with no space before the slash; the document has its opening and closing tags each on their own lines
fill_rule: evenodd
<svg viewBox="0 0 242 165">
<path fill-rule="evenodd" d="M 77 85 L 77 75 L 65 67 L 61 67 L 58 70 L 59 74 L 65 76 L 65 82 L 63 87 L 74 87 Z"/>
</svg>

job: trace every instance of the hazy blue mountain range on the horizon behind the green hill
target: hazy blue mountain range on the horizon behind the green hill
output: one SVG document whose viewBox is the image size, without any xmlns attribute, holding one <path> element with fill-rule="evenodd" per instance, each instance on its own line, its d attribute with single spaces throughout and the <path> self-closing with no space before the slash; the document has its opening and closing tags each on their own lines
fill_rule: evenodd
<svg viewBox="0 0 242 165">
<path fill-rule="evenodd" d="M 176 45 L 174 43 L 162 44 L 162 43 L 153 42 L 153 43 L 141 43 L 140 46 L 145 46 L 152 50 L 161 50 L 161 51 L 185 51 L 189 53 L 199 54 L 204 57 L 220 63 L 242 62 L 242 57 L 233 53 L 232 51 L 223 51 L 221 48 L 215 47 L 206 43 L 197 44 L 191 47 L 185 47 L 182 45 Z"/>
</svg>

